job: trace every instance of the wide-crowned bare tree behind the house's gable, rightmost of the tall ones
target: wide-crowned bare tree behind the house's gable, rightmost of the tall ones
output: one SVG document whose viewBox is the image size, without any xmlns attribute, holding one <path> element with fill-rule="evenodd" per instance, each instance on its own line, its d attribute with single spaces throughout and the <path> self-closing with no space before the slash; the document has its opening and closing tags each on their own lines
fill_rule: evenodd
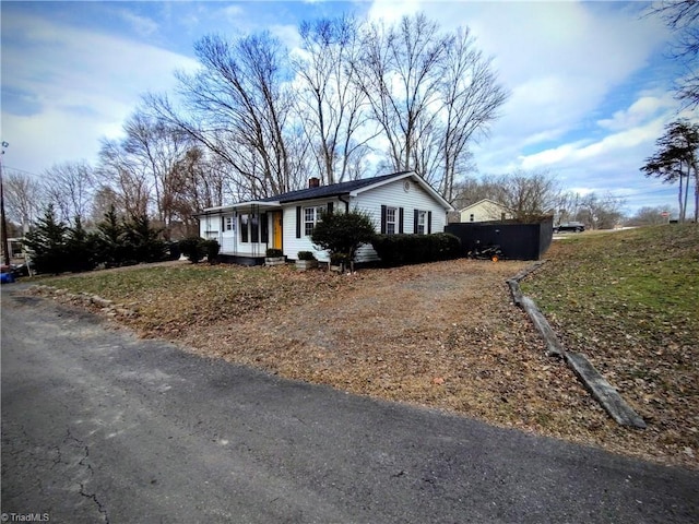
<svg viewBox="0 0 699 524">
<path fill-rule="evenodd" d="M 424 14 L 372 24 L 354 62 L 396 170 L 414 169 L 449 201 L 469 144 L 507 99 L 469 29 L 445 34 Z"/>
</svg>

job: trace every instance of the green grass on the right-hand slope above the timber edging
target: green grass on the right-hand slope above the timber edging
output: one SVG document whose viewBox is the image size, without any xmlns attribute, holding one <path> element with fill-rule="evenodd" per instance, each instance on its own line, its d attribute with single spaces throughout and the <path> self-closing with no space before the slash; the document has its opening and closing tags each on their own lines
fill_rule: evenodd
<svg viewBox="0 0 699 524">
<path fill-rule="evenodd" d="M 554 242 L 549 263 L 522 283 L 560 324 L 645 342 L 699 340 L 699 228 L 670 225 Z"/>
</svg>

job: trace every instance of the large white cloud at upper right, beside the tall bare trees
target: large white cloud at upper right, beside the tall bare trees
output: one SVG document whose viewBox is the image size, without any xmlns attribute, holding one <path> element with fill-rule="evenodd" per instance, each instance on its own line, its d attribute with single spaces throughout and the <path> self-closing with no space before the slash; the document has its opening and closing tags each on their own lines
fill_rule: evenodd
<svg viewBox="0 0 699 524">
<path fill-rule="evenodd" d="M 619 5 L 376 0 L 370 13 L 395 20 L 423 10 L 445 29 L 467 25 L 511 92 L 490 145 L 516 153 L 536 138 L 548 141 L 574 129 L 666 37 L 662 23 Z"/>
</svg>

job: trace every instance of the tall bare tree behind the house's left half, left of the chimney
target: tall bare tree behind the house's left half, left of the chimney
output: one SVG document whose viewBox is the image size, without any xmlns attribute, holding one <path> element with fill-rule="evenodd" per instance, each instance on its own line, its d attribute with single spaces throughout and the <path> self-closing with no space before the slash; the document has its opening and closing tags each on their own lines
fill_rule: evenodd
<svg viewBox="0 0 699 524">
<path fill-rule="evenodd" d="M 206 36 L 194 51 L 201 70 L 177 74 L 189 117 L 165 96 L 150 96 L 147 105 L 229 164 L 250 198 L 295 189 L 303 174 L 292 170 L 287 151 L 286 49 L 261 33 L 232 44 Z"/>
</svg>

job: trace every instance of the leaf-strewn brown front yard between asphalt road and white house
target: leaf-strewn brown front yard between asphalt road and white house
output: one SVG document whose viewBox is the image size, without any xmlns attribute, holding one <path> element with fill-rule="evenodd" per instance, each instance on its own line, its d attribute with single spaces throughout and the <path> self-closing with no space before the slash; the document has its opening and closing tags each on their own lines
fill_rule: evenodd
<svg viewBox="0 0 699 524">
<path fill-rule="evenodd" d="M 554 242 L 547 253 L 552 262 L 542 274 L 567 249 Z M 696 365 L 689 371 L 694 385 L 670 389 L 666 394 L 674 397 L 663 400 L 680 406 L 672 413 L 676 422 L 668 421 L 662 405 L 639 402 L 632 394 L 627 401 L 647 418 L 649 429 L 617 426 L 562 361 L 544 355 L 526 315 L 512 305 L 505 281 L 528 265 L 457 260 L 335 275 L 293 266 L 175 263 L 44 283 L 114 300 L 135 313 L 117 315 L 120 323 L 206 357 L 699 467 Z M 568 344 L 565 322 L 555 314 L 554 320 Z M 596 334 L 585 332 L 588 327 Z M 573 332 L 597 336 L 605 329 L 604 322 L 580 322 Z M 574 348 L 591 353 L 588 346 Z M 643 344 L 637 350 L 652 350 L 650 358 L 657 361 L 666 355 Z M 691 350 L 696 357 L 696 348 Z M 624 369 L 625 354 L 614 358 L 614 370 Z M 619 385 L 618 372 L 608 379 Z"/>
</svg>

